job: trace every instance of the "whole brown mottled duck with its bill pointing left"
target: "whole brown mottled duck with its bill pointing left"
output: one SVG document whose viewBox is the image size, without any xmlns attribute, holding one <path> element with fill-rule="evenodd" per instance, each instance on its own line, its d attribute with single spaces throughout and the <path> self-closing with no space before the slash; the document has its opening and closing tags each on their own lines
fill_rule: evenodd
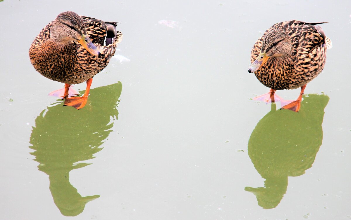
<svg viewBox="0 0 351 220">
<path fill-rule="evenodd" d="M 317 24 L 303 21 L 284 21 L 266 30 L 253 45 L 249 73 L 271 90 L 256 99 L 277 101 L 274 92 L 296 89 L 301 92 L 296 101 L 282 107 L 298 112 L 306 84 L 323 70 L 326 50 L 332 47 L 329 37 Z"/>
</svg>

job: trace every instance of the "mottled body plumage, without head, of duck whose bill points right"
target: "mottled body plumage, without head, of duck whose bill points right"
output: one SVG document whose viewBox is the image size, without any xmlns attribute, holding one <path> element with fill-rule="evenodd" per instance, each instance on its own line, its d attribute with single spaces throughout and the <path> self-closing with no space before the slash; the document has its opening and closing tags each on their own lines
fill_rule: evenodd
<svg viewBox="0 0 351 220">
<path fill-rule="evenodd" d="M 122 34 L 116 33 L 117 37 L 112 44 L 104 46 L 106 38 L 106 22 L 81 16 L 88 36 L 99 49 L 101 55 L 90 54 L 79 42 L 69 42 L 67 46 L 58 47 L 50 39 L 52 22 L 45 26 L 39 35 L 35 37 L 29 56 L 37 71 L 51 79 L 67 84 L 78 84 L 87 81 L 98 74 L 110 62 L 114 55 Z M 115 22 L 110 22 L 117 25 Z"/>
</svg>

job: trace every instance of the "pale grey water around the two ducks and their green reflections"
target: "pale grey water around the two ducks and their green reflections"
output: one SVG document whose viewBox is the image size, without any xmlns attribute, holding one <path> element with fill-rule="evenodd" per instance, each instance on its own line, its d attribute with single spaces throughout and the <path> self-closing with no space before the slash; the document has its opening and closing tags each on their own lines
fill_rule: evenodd
<svg viewBox="0 0 351 220">
<path fill-rule="evenodd" d="M 95 158 L 82 161 L 92 164 L 69 172 L 69 183 L 82 197 L 100 195 L 73 219 L 351 219 L 350 6 L 350 1 L 0 2 L 1 219 L 67 219 L 29 143 L 36 118 L 57 102 L 47 94 L 62 84 L 34 70 L 28 49 L 41 28 L 68 10 L 120 22 L 124 38 L 116 54 L 130 60 L 112 59 L 94 77 L 92 88 L 121 82 L 118 120 Z M 264 187 L 248 143 L 271 105 L 251 100 L 268 89 L 247 67 L 261 33 L 291 19 L 330 22 L 322 27 L 333 48 L 324 71 L 305 90 L 324 92 L 329 102 L 319 117 L 323 144 L 313 166 L 289 176 L 279 204 L 264 209 L 245 187 Z M 177 21 L 181 28 L 160 20 Z M 84 90 L 85 84 L 74 88 Z M 299 89 L 278 94 L 293 99 Z M 60 111 L 67 111 L 62 121 L 69 122 L 72 110 Z M 83 124 L 87 118 L 72 120 Z M 292 132 L 298 136 L 303 130 Z"/>
</svg>

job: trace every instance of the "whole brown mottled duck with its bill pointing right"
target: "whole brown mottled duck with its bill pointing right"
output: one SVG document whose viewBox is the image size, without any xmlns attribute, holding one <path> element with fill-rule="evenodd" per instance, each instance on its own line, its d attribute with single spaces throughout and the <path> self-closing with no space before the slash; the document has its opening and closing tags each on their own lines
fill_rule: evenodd
<svg viewBox="0 0 351 220">
<path fill-rule="evenodd" d="M 62 12 L 35 37 L 29 48 L 31 63 L 46 78 L 65 83 L 65 105 L 81 109 L 86 104 L 93 76 L 107 66 L 122 40 L 116 26 Z M 68 98 L 69 86 L 85 81 L 84 95 Z"/>
</svg>

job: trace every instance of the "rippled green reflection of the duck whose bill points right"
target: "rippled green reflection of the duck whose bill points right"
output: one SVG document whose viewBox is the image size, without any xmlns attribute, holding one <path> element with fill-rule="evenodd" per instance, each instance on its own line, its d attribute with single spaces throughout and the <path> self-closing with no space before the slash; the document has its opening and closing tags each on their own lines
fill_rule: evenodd
<svg viewBox="0 0 351 220">
<path fill-rule="evenodd" d="M 100 197 L 82 197 L 69 183 L 69 171 L 89 165 L 77 162 L 92 159 L 102 150 L 99 146 L 117 120 L 121 91 L 121 82 L 94 88 L 83 109 L 62 107 L 60 103 L 49 106 L 35 119 L 30 138 L 30 148 L 35 152 L 31 154 L 40 163 L 39 170 L 48 174 L 54 202 L 65 216 L 80 214 L 87 202 Z"/>
</svg>

